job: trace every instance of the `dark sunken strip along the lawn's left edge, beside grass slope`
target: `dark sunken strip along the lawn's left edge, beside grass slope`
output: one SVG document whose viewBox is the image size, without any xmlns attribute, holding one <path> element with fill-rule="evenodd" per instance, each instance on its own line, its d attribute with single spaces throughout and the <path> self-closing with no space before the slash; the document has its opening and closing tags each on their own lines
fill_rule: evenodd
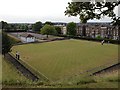
<svg viewBox="0 0 120 90">
<path fill-rule="evenodd" d="M 16 67 L 16 69 L 20 71 L 28 79 L 32 81 L 36 81 L 39 79 L 36 75 L 34 75 L 29 69 L 27 69 L 24 65 L 22 65 L 19 61 L 17 61 L 10 54 L 6 54 L 5 58 L 9 60 Z"/>
</svg>

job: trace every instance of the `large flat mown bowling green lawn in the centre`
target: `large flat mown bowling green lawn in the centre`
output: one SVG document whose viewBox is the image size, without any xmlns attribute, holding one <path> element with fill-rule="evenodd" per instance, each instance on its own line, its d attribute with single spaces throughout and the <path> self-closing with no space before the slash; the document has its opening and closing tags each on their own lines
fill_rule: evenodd
<svg viewBox="0 0 120 90">
<path fill-rule="evenodd" d="M 19 45 L 12 48 L 13 54 L 16 51 L 20 52 L 23 61 L 52 81 L 118 60 L 117 45 L 82 40 Z"/>
</svg>

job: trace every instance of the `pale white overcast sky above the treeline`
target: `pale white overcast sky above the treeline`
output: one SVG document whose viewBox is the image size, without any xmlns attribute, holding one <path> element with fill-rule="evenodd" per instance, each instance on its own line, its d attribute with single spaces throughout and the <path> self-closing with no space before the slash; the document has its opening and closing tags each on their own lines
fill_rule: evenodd
<svg viewBox="0 0 120 90">
<path fill-rule="evenodd" d="M 79 17 L 65 16 L 64 11 L 72 0 L 0 0 L 0 21 L 9 23 L 80 22 Z M 118 11 L 117 9 L 115 10 Z M 110 22 L 102 20 L 89 22 Z"/>
</svg>

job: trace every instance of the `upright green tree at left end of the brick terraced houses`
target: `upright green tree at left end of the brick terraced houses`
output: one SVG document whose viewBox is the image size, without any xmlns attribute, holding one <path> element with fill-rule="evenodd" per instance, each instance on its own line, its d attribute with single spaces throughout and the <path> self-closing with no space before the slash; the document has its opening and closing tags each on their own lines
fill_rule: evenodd
<svg viewBox="0 0 120 90">
<path fill-rule="evenodd" d="M 67 34 L 68 35 L 76 35 L 76 23 L 70 22 L 67 24 Z"/>
</svg>

